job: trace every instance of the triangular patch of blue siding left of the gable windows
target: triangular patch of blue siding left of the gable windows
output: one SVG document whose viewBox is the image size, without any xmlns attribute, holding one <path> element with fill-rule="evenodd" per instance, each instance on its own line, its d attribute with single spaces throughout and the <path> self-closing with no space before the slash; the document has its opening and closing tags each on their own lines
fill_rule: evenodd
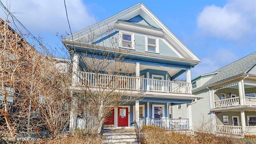
<svg viewBox="0 0 256 144">
<path fill-rule="evenodd" d="M 98 46 L 106 46 L 111 48 L 118 48 L 119 47 L 119 32 L 115 31 L 104 38 L 97 40 L 94 42 L 95 45 Z"/>
</svg>

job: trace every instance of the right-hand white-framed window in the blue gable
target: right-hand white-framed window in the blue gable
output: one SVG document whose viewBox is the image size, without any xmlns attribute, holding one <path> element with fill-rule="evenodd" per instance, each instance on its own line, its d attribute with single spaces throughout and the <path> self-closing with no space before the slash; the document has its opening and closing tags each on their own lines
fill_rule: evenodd
<svg viewBox="0 0 256 144">
<path fill-rule="evenodd" d="M 158 38 L 152 38 L 152 37 L 146 36 L 146 51 L 159 53 Z"/>
</svg>

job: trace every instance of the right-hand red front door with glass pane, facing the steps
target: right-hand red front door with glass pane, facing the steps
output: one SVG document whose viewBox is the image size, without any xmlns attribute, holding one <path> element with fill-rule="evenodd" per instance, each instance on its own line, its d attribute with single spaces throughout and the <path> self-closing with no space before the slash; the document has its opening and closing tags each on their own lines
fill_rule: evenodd
<svg viewBox="0 0 256 144">
<path fill-rule="evenodd" d="M 128 108 L 118 107 L 118 126 L 128 126 Z"/>
</svg>

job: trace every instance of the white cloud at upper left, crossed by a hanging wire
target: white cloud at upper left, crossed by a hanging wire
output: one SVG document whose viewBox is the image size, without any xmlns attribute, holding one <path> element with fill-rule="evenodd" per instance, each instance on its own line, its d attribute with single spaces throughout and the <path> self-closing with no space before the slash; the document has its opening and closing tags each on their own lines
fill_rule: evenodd
<svg viewBox="0 0 256 144">
<path fill-rule="evenodd" d="M 6 0 L 2 2 L 6 6 Z M 10 4 L 10 11 L 16 12 L 14 15 L 34 34 L 70 33 L 64 0 L 8 0 L 7 4 Z M 96 23 L 82 0 L 66 0 L 66 6 L 73 33 Z"/>
</svg>

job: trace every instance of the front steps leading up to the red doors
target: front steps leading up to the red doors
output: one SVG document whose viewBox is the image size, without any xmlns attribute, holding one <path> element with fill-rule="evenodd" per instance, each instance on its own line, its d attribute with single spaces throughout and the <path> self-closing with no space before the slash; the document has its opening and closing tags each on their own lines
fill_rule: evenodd
<svg viewBox="0 0 256 144">
<path fill-rule="evenodd" d="M 112 133 L 105 132 L 103 135 L 106 137 L 106 144 L 140 144 L 135 132 L 125 132 L 124 130 Z"/>
</svg>

